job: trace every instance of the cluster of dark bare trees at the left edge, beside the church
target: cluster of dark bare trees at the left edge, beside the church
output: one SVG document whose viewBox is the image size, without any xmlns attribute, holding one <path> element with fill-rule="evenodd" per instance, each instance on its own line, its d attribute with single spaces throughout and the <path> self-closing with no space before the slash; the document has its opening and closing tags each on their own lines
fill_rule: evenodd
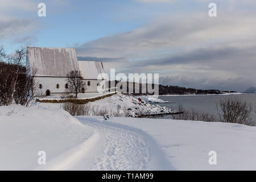
<svg viewBox="0 0 256 182">
<path fill-rule="evenodd" d="M 18 49 L 11 55 L 6 55 L 5 49 L 0 47 L 0 105 L 26 105 L 34 98 L 36 82 L 34 76 L 26 72 L 26 50 Z"/>
</svg>

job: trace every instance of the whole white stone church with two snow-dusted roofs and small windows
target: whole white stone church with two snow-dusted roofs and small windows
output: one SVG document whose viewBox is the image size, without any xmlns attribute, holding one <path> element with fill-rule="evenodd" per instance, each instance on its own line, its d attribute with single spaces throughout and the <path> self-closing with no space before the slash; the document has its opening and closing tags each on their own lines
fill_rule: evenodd
<svg viewBox="0 0 256 182">
<path fill-rule="evenodd" d="M 75 70 L 86 84 L 81 92 L 98 92 L 98 75 L 105 73 L 101 61 L 78 61 L 75 48 L 27 47 L 27 71 L 34 68 L 38 90 L 46 96 L 67 92 L 67 74 Z"/>
</svg>

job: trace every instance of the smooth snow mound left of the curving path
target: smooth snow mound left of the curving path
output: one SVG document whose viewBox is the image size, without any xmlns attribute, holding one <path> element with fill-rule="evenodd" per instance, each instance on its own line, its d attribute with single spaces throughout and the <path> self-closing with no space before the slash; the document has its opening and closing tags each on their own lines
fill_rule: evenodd
<svg viewBox="0 0 256 182">
<path fill-rule="evenodd" d="M 1 106 L 0 170 L 36 169 L 40 167 L 39 151 L 46 151 L 47 161 L 54 164 L 51 161 L 60 154 L 86 144 L 93 134 L 92 127 L 82 125 L 62 109 Z"/>
</svg>

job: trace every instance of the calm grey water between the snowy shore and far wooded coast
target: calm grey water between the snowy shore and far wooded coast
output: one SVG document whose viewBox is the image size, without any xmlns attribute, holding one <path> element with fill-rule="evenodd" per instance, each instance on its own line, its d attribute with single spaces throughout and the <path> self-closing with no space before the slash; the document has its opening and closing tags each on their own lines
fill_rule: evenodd
<svg viewBox="0 0 256 182">
<path fill-rule="evenodd" d="M 210 113 L 218 117 L 216 104 L 224 98 L 228 97 L 238 97 L 242 98 L 246 102 L 253 106 L 253 110 L 256 110 L 256 94 L 242 94 L 242 95 L 232 95 L 232 96 L 163 96 L 159 97 L 164 101 L 170 101 L 175 103 L 164 103 L 158 104 L 160 106 L 166 106 L 167 108 L 177 110 L 179 105 L 183 105 L 186 110 L 196 110 L 200 112 Z M 154 104 L 156 105 L 156 104 Z M 172 118 L 171 115 L 164 115 L 159 118 Z M 256 114 L 253 111 L 252 119 L 256 122 Z"/>
</svg>

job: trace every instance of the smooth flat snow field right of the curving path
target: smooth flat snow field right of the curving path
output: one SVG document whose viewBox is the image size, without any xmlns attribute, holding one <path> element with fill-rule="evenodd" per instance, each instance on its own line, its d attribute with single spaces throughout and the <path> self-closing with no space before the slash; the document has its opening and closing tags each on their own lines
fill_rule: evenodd
<svg viewBox="0 0 256 182">
<path fill-rule="evenodd" d="M 168 162 L 166 169 L 256 170 L 256 127 L 145 118 L 111 118 L 105 125 L 144 134 L 149 145 L 154 141 L 164 152 L 159 155 Z M 217 153 L 217 165 L 209 164 L 210 151 Z"/>
</svg>

